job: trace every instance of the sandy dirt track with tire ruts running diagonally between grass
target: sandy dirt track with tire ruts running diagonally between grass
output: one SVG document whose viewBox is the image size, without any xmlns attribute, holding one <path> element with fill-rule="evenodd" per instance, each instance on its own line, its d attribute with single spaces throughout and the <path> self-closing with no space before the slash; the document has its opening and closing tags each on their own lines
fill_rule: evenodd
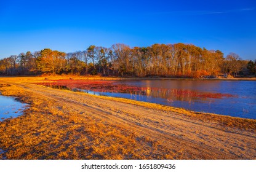
<svg viewBox="0 0 256 172">
<path fill-rule="evenodd" d="M 255 132 L 186 119 L 182 114 L 172 111 L 145 108 L 86 94 L 63 92 L 33 84 L 15 85 L 102 121 L 122 125 L 137 135 L 148 136 L 169 147 L 174 153 L 182 153 L 183 158 L 256 158 Z"/>
</svg>

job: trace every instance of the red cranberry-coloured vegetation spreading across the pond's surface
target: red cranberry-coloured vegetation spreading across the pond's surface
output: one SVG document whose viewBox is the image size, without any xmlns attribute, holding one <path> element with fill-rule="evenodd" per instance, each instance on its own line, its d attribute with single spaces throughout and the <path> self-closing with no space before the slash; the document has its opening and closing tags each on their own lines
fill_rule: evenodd
<svg viewBox="0 0 256 172">
<path fill-rule="evenodd" d="M 130 93 L 136 95 L 146 95 L 161 98 L 224 98 L 236 97 L 236 95 L 223 93 L 207 93 L 196 92 L 192 90 L 174 89 L 174 88 L 146 88 L 136 87 L 132 85 L 120 84 L 116 81 L 110 80 L 49 80 L 49 82 L 38 83 L 53 88 L 65 88 L 73 90 L 78 88 L 81 90 L 91 90 L 94 92 L 110 92 L 110 93 Z"/>
</svg>

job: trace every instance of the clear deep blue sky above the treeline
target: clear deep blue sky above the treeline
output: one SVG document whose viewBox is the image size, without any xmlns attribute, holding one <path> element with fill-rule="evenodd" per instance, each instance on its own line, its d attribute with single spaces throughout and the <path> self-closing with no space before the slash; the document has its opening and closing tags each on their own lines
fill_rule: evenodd
<svg viewBox="0 0 256 172">
<path fill-rule="evenodd" d="M 50 48 L 194 44 L 256 59 L 255 0 L 0 0 L 0 59 Z"/>
</svg>

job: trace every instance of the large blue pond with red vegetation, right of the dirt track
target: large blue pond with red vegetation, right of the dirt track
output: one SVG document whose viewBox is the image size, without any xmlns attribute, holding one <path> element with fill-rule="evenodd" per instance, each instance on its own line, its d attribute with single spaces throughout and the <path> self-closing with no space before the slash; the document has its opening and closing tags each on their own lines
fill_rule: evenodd
<svg viewBox="0 0 256 172">
<path fill-rule="evenodd" d="M 256 119 L 256 81 L 57 80 L 47 86 L 164 104 L 191 111 Z"/>
</svg>

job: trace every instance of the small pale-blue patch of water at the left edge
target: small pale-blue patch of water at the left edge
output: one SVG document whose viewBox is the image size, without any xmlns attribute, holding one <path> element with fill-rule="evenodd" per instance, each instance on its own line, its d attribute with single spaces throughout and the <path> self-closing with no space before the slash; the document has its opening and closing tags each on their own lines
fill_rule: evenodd
<svg viewBox="0 0 256 172">
<path fill-rule="evenodd" d="M 0 95 L 0 122 L 7 118 L 22 115 L 27 104 L 15 101 L 14 98 Z"/>
</svg>

